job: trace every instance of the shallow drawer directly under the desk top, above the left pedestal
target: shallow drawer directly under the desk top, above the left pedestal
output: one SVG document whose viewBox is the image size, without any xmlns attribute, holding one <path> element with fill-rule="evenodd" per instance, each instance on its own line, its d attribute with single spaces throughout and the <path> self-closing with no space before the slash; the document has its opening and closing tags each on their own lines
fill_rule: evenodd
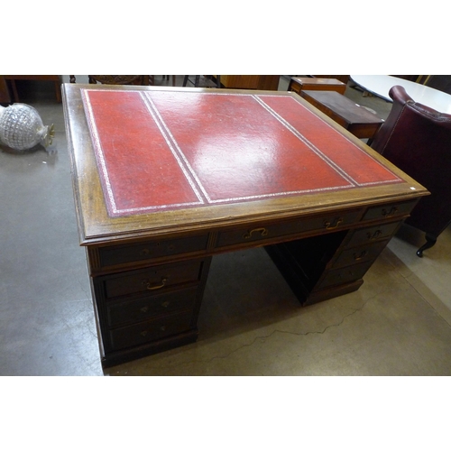
<svg viewBox="0 0 451 451">
<path fill-rule="evenodd" d="M 153 258 L 193 253 L 207 249 L 208 235 L 170 240 L 154 240 L 140 244 L 120 244 L 98 250 L 101 266 L 141 262 Z"/>
</svg>

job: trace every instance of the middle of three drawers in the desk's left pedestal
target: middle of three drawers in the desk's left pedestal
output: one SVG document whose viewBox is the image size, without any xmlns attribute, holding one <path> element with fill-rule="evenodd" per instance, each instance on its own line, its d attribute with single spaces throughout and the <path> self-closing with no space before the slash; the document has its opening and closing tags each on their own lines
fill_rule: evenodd
<svg viewBox="0 0 451 451">
<path fill-rule="evenodd" d="M 156 315 L 194 308 L 198 287 L 175 290 L 157 296 L 132 301 L 108 303 L 106 315 L 109 327 L 139 323 Z"/>
</svg>

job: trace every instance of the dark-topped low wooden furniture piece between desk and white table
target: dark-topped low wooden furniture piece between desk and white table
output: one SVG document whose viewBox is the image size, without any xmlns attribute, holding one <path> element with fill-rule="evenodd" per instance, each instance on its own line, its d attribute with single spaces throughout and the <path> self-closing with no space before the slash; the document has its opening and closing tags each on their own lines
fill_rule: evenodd
<svg viewBox="0 0 451 451">
<path fill-rule="evenodd" d="M 316 106 L 357 138 L 372 139 L 383 120 L 364 106 L 335 91 L 300 91 L 299 95 Z"/>
</svg>

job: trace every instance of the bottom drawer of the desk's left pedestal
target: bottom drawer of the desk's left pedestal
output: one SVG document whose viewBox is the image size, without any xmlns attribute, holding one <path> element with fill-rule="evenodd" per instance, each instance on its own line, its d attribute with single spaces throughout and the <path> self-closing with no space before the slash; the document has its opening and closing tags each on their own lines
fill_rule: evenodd
<svg viewBox="0 0 451 451">
<path fill-rule="evenodd" d="M 191 327 L 191 317 L 191 312 L 184 312 L 178 315 L 168 315 L 154 321 L 110 330 L 109 338 L 112 350 L 116 351 L 125 347 L 143 345 L 166 336 L 185 332 Z"/>
</svg>

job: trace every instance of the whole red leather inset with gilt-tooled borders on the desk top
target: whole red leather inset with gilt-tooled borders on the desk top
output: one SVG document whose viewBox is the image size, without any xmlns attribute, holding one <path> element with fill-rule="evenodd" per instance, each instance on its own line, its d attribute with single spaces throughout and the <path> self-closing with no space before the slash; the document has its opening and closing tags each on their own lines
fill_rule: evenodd
<svg viewBox="0 0 451 451">
<path fill-rule="evenodd" d="M 109 216 L 403 181 L 293 97 L 81 93 Z"/>
</svg>

